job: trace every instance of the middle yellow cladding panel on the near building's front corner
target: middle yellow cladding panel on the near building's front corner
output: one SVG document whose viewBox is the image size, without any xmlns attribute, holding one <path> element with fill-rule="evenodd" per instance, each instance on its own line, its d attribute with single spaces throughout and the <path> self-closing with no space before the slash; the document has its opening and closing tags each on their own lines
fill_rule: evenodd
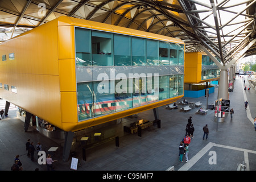
<svg viewBox="0 0 256 182">
<path fill-rule="evenodd" d="M 59 60 L 60 91 L 76 92 L 75 59 Z"/>
</svg>

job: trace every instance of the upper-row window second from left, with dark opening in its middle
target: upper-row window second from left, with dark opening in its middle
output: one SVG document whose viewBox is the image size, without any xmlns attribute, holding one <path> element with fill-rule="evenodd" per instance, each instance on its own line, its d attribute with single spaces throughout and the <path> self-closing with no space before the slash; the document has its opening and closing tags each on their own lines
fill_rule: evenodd
<svg viewBox="0 0 256 182">
<path fill-rule="evenodd" d="M 93 66 L 113 66 L 113 34 L 92 30 Z"/>
</svg>

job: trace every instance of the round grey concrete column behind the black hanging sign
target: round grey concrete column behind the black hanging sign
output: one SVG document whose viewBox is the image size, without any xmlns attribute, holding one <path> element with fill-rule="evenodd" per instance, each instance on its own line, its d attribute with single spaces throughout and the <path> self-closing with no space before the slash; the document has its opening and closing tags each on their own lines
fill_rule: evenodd
<svg viewBox="0 0 256 182">
<path fill-rule="evenodd" d="M 220 72 L 220 81 L 218 83 L 218 98 L 229 100 L 229 80 L 228 80 L 228 70 L 221 69 Z M 225 114 L 226 115 L 226 114 Z M 218 115 L 218 122 L 224 122 L 225 116 L 222 117 L 222 112 Z"/>
</svg>

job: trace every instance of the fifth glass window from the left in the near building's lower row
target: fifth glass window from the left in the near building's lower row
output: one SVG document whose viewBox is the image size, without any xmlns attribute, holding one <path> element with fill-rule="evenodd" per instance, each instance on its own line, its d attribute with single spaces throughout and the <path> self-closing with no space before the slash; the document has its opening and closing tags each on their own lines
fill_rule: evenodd
<svg viewBox="0 0 256 182">
<path fill-rule="evenodd" d="M 147 77 L 147 103 L 158 101 L 159 94 L 159 77 Z"/>
</svg>

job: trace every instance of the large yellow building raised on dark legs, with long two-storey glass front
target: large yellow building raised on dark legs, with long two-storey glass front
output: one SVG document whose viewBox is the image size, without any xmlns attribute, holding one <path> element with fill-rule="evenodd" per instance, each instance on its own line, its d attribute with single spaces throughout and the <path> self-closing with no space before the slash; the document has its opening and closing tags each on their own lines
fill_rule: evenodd
<svg viewBox="0 0 256 182">
<path fill-rule="evenodd" d="M 61 16 L 0 44 L 0 55 L 0 97 L 64 131 L 184 95 L 184 43 L 167 36 Z"/>
</svg>

